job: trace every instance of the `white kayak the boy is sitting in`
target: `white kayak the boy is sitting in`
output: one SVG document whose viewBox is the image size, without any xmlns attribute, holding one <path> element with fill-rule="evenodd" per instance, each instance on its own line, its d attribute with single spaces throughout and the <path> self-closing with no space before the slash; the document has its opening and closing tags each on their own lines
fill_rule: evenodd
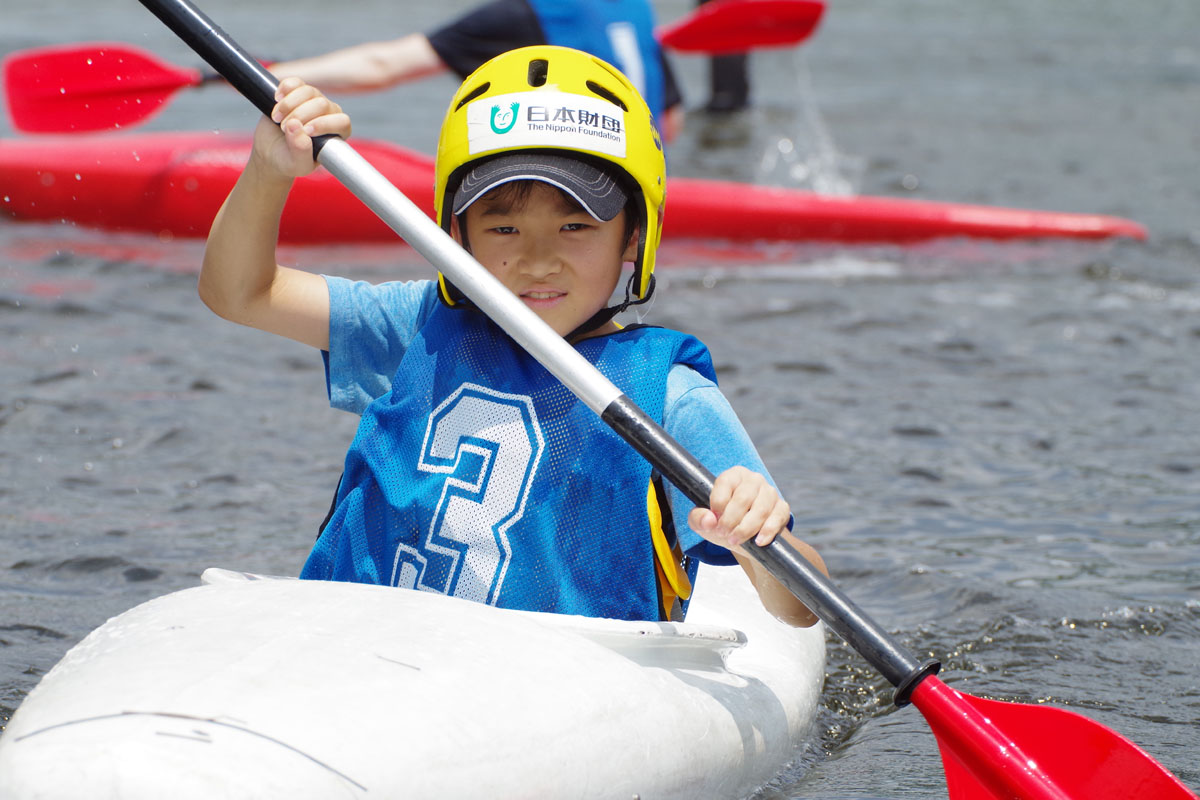
<svg viewBox="0 0 1200 800">
<path fill-rule="evenodd" d="M 737 798 L 808 735 L 821 625 L 738 567 L 688 622 L 209 570 L 76 645 L 0 736 L 0 798 Z"/>
</svg>

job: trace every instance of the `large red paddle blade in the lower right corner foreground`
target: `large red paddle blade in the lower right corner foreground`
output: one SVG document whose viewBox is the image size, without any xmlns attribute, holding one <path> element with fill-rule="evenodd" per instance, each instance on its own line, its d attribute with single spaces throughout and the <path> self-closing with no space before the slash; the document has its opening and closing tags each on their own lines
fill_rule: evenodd
<svg viewBox="0 0 1200 800">
<path fill-rule="evenodd" d="M 962 694 L 937 678 L 912 703 L 937 736 L 952 800 L 1196 800 L 1121 734 L 1046 705 Z"/>
</svg>

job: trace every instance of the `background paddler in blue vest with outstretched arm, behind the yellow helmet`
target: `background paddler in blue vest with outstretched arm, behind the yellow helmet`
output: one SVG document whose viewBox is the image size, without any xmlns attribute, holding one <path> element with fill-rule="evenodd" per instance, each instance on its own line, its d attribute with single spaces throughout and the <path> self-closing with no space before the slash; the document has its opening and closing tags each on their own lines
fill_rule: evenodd
<svg viewBox="0 0 1200 800">
<path fill-rule="evenodd" d="M 662 138 L 683 130 L 683 97 L 654 37 L 647 0 L 491 0 L 428 34 L 365 42 L 270 65 L 323 91 L 372 91 L 451 71 L 460 79 L 520 47 L 557 44 L 592 53 L 624 72 L 646 100 Z"/>
</svg>

